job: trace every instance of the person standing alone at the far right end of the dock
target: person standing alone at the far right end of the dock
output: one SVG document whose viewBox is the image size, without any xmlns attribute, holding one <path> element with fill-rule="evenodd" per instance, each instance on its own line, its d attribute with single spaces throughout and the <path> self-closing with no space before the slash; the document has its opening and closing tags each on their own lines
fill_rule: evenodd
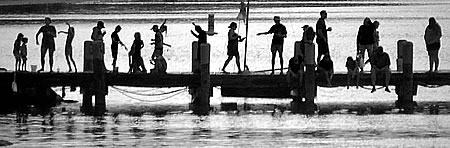
<svg viewBox="0 0 450 148">
<path fill-rule="evenodd" d="M 434 65 L 434 72 L 439 67 L 439 48 L 441 48 L 442 30 L 441 26 L 436 22 L 434 17 L 428 19 L 428 26 L 425 29 L 425 44 L 428 51 L 428 58 L 430 60 L 430 69 L 428 72 L 432 72 Z"/>
</svg>

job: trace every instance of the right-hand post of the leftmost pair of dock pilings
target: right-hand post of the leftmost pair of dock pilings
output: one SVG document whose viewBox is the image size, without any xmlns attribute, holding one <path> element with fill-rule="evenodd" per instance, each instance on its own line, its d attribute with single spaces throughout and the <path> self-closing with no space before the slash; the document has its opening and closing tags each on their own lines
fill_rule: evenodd
<svg viewBox="0 0 450 148">
<path fill-rule="evenodd" d="M 105 65 L 103 63 L 105 44 L 100 41 L 94 41 L 92 47 L 94 53 L 95 113 L 102 115 L 106 111 Z"/>
</svg>

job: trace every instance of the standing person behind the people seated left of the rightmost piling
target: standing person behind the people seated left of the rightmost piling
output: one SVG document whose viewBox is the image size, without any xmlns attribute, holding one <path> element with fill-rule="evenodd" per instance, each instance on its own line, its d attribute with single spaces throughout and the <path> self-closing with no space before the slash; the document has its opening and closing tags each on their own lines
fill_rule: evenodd
<svg viewBox="0 0 450 148">
<path fill-rule="evenodd" d="M 364 61 L 365 52 L 367 50 L 368 57 L 370 59 L 373 53 L 373 46 L 375 44 L 375 25 L 372 23 L 370 18 L 364 18 L 363 25 L 359 27 L 358 35 L 356 38 L 356 44 L 358 46 L 358 51 L 361 53 L 361 58 Z M 364 67 L 363 67 L 364 68 Z M 361 69 L 361 71 L 364 71 Z"/>
</svg>

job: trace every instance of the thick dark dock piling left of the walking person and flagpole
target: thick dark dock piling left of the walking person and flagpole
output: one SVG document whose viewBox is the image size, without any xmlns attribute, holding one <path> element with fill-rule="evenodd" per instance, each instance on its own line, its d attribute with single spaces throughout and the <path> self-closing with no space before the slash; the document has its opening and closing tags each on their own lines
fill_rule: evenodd
<svg viewBox="0 0 450 148">
<path fill-rule="evenodd" d="M 191 109 L 194 114 L 208 115 L 210 104 L 210 45 L 203 43 L 200 45 L 200 51 L 198 51 L 197 42 L 192 43 L 192 72 L 199 77 L 200 86 L 194 86 L 190 88 L 190 94 L 192 95 Z M 200 52 L 200 54 L 198 54 Z"/>
</svg>

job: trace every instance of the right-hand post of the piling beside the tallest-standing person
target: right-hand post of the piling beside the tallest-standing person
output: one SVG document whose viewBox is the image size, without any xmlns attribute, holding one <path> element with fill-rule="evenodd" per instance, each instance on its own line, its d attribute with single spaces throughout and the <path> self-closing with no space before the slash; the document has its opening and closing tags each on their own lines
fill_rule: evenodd
<svg viewBox="0 0 450 148">
<path fill-rule="evenodd" d="M 305 65 L 306 72 L 304 77 L 305 82 L 305 103 L 303 103 L 303 113 L 313 114 L 316 110 L 314 98 L 316 97 L 316 76 L 314 70 L 315 50 L 314 44 L 305 44 Z"/>
</svg>

